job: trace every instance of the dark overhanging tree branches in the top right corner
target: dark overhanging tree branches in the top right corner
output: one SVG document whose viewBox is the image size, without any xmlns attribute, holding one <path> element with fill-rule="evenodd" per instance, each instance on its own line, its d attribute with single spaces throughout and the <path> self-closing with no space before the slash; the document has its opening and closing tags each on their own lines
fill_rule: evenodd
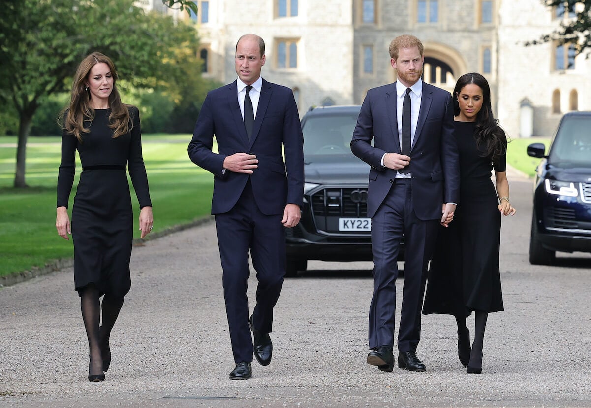
<svg viewBox="0 0 591 408">
<path fill-rule="evenodd" d="M 569 13 L 573 18 L 561 21 L 560 27 L 538 40 L 527 41 L 526 46 L 557 41 L 558 44 L 573 44 L 576 55 L 591 53 L 591 0 L 544 0 L 547 7 Z"/>
</svg>

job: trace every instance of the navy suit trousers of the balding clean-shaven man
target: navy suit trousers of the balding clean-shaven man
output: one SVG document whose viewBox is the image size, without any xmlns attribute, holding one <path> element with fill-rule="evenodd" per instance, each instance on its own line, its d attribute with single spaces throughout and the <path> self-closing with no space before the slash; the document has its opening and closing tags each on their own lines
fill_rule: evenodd
<svg viewBox="0 0 591 408">
<path fill-rule="evenodd" d="M 216 214 L 217 243 L 223 269 L 223 292 L 236 363 L 252 361 L 252 337 L 248 327 L 246 288 L 250 268 L 248 251 L 256 271 L 256 330 L 272 332 L 273 307 L 285 275 L 285 227 L 283 214 L 265 215 L 256 205 L 250 180 L 228 213 Z"/>
</svg>

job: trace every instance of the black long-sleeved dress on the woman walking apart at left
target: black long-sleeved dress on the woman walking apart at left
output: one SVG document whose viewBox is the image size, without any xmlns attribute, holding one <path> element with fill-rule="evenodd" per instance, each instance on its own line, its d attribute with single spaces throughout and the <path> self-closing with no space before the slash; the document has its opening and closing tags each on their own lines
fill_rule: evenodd
<svg viewBox="0 0 591 408">
<path fill-rule="evenodd" d="M 64 130 L 57 179 L 57 207 L 67 207 L 76 170 L 76 150 L 82 173 L 72 208 L 74 288 L 95 284 L 100 294 L 123 296 L 131 288 L 129 261 L 133 241 L 133 210 L 126 168 L 140 208 L 151 207 L 142 157 L 139 112 L 129 107 L 131 130 L 113 139 L 110 109 L 95 110 L 85 121 L 89 133 L 82 143 Z"/>
</svg>

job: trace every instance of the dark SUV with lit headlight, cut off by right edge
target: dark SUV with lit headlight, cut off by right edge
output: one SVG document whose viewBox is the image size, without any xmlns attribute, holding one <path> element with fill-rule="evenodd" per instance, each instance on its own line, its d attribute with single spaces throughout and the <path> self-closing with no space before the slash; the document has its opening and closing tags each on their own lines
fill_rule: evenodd
<svg viewBox="0 0 591 408">
<path fill-rule="evenodd" d="M 530 263 L 551 265 L 556 251 L 591 252 L 591 112 L 563 116 L 550 143 L 527 154 L 543 158 L 534 184 Z"/>
</svg>

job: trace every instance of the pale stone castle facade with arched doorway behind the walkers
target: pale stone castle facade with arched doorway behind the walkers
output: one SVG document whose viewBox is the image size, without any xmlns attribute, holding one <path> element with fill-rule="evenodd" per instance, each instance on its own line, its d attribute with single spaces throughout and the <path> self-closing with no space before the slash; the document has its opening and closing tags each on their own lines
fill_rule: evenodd
<svg viewBox="0 0 591 408">
<path fill-rule="evenodd" d="M 144 0 L 150 1 L 150 0 Z M 591 59 L 554 43 L 524 46 L 571 18 L 541 0 L 199 0 L 203 74 L 236 78 L 245 33 L 264 38 L 265 79 L 309 107 L 361 104 L 369 88 L 395 81 L 388 46 L 413 34 L 425 46 L 424 80 L 448 91 L 482 73 L 493 111 L 510 137 L 552 136 L 566 112 L 591 110 Z M 189 18 L 177 13 L 178 18 Z"/>
</svg>

